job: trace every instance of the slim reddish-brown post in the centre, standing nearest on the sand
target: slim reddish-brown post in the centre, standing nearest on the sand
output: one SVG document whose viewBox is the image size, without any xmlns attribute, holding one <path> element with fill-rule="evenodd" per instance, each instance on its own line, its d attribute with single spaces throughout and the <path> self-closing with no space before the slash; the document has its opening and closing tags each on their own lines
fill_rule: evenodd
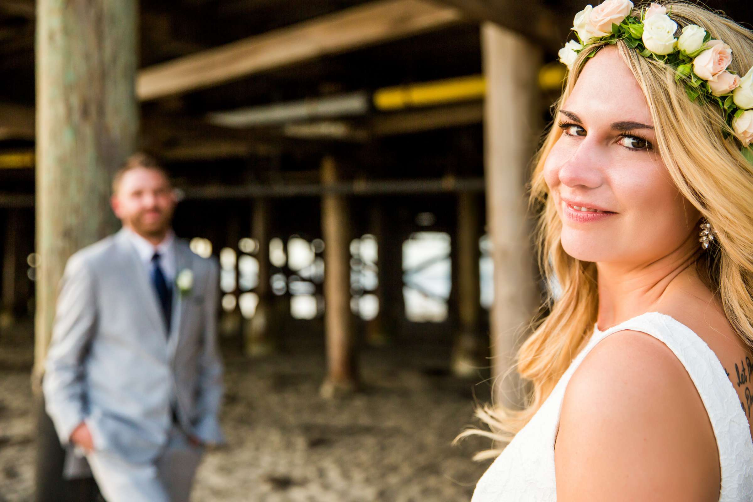
<svg viewBox="0 0 753 502">
<path fill-rule="evenodd" d="M 333 157 L 322 160 L 322 184 L 340 178 Z M 327 377 L 322 396 L 336 397 L 358 386 L 355 329 L 350 311 L 350 218 L 344 196 L 322 196 L 322 236 L 325 241 L 325 336 Z"/>
</svg>

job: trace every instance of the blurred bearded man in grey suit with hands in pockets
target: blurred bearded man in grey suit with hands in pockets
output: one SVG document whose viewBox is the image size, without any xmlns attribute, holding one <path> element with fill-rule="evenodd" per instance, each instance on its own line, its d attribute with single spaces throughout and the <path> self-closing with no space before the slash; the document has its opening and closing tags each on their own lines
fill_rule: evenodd
<svg viewBox="0 0 753 502">
<path fill-rule="evenodd" d="M 188 500 L 218 423 L 218 265 L 175 239 L 166 172 L 134 154 L 113 181 L 123 229 L 60 283 L 43 382 L 66 471 L 85 455 L 108 502 Z"/>
</svg>

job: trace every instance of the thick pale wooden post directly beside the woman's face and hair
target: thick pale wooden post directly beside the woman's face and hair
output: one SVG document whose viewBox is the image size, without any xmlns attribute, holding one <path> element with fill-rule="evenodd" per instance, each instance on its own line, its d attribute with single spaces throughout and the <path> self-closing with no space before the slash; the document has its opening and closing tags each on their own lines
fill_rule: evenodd
<svg viewBox="0 0 753 502">
<path fill-rule="evenodd" d="M 514 364 L 538 306 L 531 221 L 526 211 L 529 163 L 540 131 L 535 103 L 541 49 L 492 23 L 481 28 L 488 90 L 484 117 L 486 214 L 494 261 L 491 309 L 492 379 Z M 495 400 L 520 404 L 513 374 L 498 379 Z"/>
</svg>

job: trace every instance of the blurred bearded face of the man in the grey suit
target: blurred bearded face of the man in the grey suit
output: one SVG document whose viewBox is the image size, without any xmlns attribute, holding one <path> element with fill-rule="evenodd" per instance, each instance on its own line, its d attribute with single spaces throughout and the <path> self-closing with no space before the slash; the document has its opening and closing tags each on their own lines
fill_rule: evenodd
<svg viewBox="0 0 753 502">
<path fill-rule="evenodd" d="M 145 237 L 165 235 L 176 202 L 169 180 L 159 171 L 142 167 L 126 172 L 112 196 L 113 211 L 123 227 Z"/>
</svg>

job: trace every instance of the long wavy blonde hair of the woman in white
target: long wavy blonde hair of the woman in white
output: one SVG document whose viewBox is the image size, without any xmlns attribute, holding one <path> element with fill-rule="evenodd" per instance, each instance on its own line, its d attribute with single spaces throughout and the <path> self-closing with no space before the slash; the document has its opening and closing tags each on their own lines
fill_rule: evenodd
<svg viewBox="0 0 753 502">
<path fill-rule="evenodd" d="M 730 70 L 744 75 L 753 66 L 753 32 L 721 14 L 687 2 L 660 2 L 679 29 L 696 24 L 712 38 L 732 48 Z M 639 8 L 638 8 L 639 9 Z M 590 53 L 605 44 L 582 50 L 569 72 L 562 96 L 553 105 L 555 116 L 575 87 Z M 615 44 L 638 81 L 654 120 L 657 147 L 666 169 L 682 195 L 715 228 L 718 239 L 698 254 L 697 269 L 709 289 L 718 295 L 736 333 L 753 347 L 753 166 L 745 160 L 718 105 L 699 105 L 688 99 L 683 84 L 675 82 L 672 68 L 639 55 L 622 41 Z M 533 160 L 529 202 L 538 213 L 538 260 L 546 278 L 556 278 L 560 291 L 544 302 L 549 313 L 533 322 L 531 336 L 517 354 L 517 371 L 532 392 L 523 409 L 483 406 L 476 415 L 491 431 L 471 429 L 458 439 L 483 435 L 508 443 L 532 418 L 583 348 L 596 323 L 598 291 L 596 265 L 569 256 L 559 242 L 561 222 L 544 181 L 544 161 L 561 135 L 550 127 Z M 477 459 L 498 455 L 480 452 Z"/>
</svg>

